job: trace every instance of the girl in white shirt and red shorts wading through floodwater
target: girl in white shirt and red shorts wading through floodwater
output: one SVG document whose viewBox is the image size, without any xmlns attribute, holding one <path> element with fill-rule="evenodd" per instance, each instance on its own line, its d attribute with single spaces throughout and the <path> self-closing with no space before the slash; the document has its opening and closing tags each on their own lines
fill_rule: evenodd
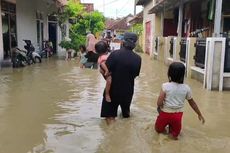
<svg viewBox="0 0 230 153">
<path fill-rule="evenodd" d="M 169 82 L 163 83 L 157 106 L 159 115 L 155 122 L 155 130 L 158 133 L 166 131 L 169 126 L 169 136 L 177 140 L 182 127 L 182 116 L 185 99 L 188 100 L 192 109 L 197 113 L 198 119 L 204 124 L 196 102 L 192 98 L 191 89 L 184 84 L 185 66 L 180 62 L 170 64 L 168 69 Z"/>
</svg>

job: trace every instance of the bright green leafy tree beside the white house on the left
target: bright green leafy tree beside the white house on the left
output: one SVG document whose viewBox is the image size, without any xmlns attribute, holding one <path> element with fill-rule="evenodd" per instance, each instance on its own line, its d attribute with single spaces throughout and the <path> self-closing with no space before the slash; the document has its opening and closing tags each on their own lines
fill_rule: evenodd
<svg viewBox="0 0 230 153">
<path fill-rule="evenodd" d="M 83 6 L 73 0 L 68 2 L 63 12 L 59 15 L 60 27 L 68 19 L 75 19 L 76 23 L 70 27 L 70 39 L 72 48 L 78 51 L 79 46 L 85 44 L 86 33 L 91 31 L 93 34 L 100 33 L 105 28 L 105 17 L 98 11 L 87 13 Z"/>
</svg>

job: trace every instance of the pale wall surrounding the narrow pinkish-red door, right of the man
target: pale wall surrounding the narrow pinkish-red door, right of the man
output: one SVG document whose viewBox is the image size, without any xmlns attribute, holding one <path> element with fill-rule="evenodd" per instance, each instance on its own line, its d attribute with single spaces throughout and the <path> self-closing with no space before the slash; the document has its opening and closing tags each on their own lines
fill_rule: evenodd
<svg viewBox="0 0 230 153">
<path fill-rule="evenodd" d="M 143 39 L 143 50 L 145 51 L 145 23 L 151 21 L 151 40 L 150 40 L 150 55 L 153 55 L 153 35 L 155 33 L 155 15 L 154 14 L 149 14 L 149 10 L 153 7 L 154 5 L 154 0 L 149 2 L 148 4 L 144 5 L 144 10 L 143 10 L 143 28 L 144 28 L 144 39 Z"/>
</svg>

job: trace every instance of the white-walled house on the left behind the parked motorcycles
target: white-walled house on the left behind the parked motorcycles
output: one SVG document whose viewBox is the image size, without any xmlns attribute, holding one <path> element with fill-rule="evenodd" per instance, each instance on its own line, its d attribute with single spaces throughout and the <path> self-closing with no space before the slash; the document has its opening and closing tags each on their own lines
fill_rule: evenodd
<svg viewBox="0 0 230 153">
<path fill-rule="evenodd" d="M 44 40 L 50 40 L 59 54 L 58 44 L 68 35 L 68 24 L 63 35 L 56 12 L 66 4 L 67 0 L 1 0 L 0 62 L 11 59 L 13 47 L 23 49 L 23 39 L 31 40 L 36 48 L 41 48 Z"/>
</svg>

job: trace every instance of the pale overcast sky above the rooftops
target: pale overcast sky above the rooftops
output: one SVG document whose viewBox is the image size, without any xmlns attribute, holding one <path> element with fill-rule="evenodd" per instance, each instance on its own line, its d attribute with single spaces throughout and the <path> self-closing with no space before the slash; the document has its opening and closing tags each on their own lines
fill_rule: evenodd
<svg viewBox="0 0 230 153">
<path fill-rule="evenodd" d="M 123 17 L 134 13 L 135 0 L 81 0 L 82 3 L 94 3 L 94 9 L 103 12 L 106 17 Z M 104 4 L 104 5 L 103 5 Z M 137 13 L 142 7 L 137 7 Z"/>
</svg>

